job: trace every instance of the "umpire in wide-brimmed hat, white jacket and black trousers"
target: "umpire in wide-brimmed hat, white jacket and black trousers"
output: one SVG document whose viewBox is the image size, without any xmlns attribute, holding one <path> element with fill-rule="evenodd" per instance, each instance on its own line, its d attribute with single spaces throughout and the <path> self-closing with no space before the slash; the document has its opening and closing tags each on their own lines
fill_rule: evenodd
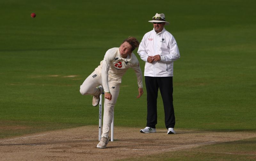
<svg viewBox="0 0 256 161">
<path fill-rule="evenodd" d="M 180 52 L 176 40 L 172 34 L 165 30 L 164 14 L 158 14 L 151 21 L 154 29 L 147 32 L 140 42 L 138 53 L 146 62 L 144 76 L 147 88 L 148 114 L 146 128 L 141 133 L 156 132 L 157 124 L 157 94 L 158 88 L 162 95 L 165 114 L 165 126 L 167 134 L 175 134 L 175 115 L 172 98 L 173 61 L 180 58 Z"/>
</svg>

